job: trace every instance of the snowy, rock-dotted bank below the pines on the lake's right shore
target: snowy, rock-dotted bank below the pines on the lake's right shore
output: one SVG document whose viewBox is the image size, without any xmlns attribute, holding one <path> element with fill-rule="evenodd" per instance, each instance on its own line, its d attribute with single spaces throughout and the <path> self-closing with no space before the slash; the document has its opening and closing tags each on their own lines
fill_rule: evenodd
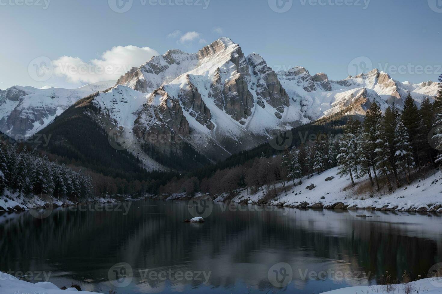
<svg viewBox="0 0 442 294">
<path fill-rule="evenodd" d="M 356 186 L 351 186 L 349 179 L 337 175 L 337 167 L 324 171 L 312 178 L 304 178 L 303 183 L 287 191 L 287 196 L 282 192 L 276 199 L 269 201 L 268 205 L 286 206 L 292 208 L 343 208 L 367 209 L 382 211 L 417 211 L 417 212 L 442 212 L 442 173 L 422 181 L 416 180 L 411 185 L 404 184 L 392 192 L 386 189 L 376 192 L 365 186 L 370 186 L 368 179 L 361 179 Z M 331 180 L 326 179 L 334 177 Z M 308 187 L 313 188 L 310 190 Z M 292 185 L 293 182 L 287 182 Z M 250 190 L 249 190 L 250 192 Z M 250 195 L 247 190 L 242 191 L 233 199 L 238 203 L 259 203 L 263 198 L 261 189 Z M 220 199 L 218 199 L 220 200 Z"/>
</svg>

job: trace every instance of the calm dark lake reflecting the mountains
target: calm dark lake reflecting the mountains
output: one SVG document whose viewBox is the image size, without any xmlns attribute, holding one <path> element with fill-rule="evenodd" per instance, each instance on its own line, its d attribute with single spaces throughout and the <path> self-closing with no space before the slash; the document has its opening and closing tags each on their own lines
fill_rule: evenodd
<svg viewBox="0 0 442 294">
<path fill-rule="evenodd" d="M 1 214 L 0 270 L 102 293 L 312 294 L 379 283 L 386 271 L 425 277 L 442 262 L 441 214 L 210 210 L 205 223 L 183 222 L 187 201 Z"/>
</svg>

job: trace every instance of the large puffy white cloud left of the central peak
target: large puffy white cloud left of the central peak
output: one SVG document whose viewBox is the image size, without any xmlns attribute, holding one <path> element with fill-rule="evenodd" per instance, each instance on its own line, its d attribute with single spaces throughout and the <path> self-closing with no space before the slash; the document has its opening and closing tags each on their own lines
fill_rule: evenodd
<svg viewBox="0 0 442 294">
<path fill-rule="evenodd" d="M 115 46 L 100 59 L 85 62 L 79 57 L 61 56 L 53 60 L 54 73 L 71 83 L 116 80 L 132 67 L 139 67 L 159 53 L 149 47 Z"/>
</svg>

